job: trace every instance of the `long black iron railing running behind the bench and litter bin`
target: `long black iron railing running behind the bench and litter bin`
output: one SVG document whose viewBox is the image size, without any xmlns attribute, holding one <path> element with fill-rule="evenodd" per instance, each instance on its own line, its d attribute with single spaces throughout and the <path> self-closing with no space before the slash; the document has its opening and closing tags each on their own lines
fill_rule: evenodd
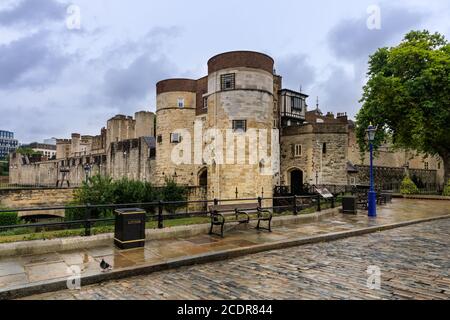
<svg viewBox="0 0 450 320">
<path fill-rule="evenodd" d="M 289 196 L 289 197 L 272 197 L 272 198 L 246 198 L 232 200 L 197 200 L 197 201 L 158 201 L 150 203 L 128 203 L 128 204 L 102 204 L 102 205 L 79 205 L 79 206 L 53 206 L 39 208 L 14 208 L 0 210 L 2 213 L 20 212 L 22 215 L 45 216 L 49 211 L 64 210 L 68 212 L 78 211 L 83 213 L 80 219 L 67 221 L 49 221 L 38 223 L 14 224 L 0 226 L 0 236 L 2 233 L 15 229 L 27 229 L 30 233 L 40 231 L 57 231 L 84 229 L 84 236 L 92 234 L 92 228 L 95 226 L 110 226 L 114 224 L 115 217 L 111 214 L 114 210 L 124 208 L 141 208 L 146 211 L 146 222 L 155 222 L 156 228 L 162 229 L 168 220 L 203 217 L 209 218 L 209 206 L 221 204 L 239 204 L 254 203 L 255 210 L 257 208 L 267 209 L 274 212 L 274 215 L 298 215 L 304 210 L 309 212 L 321 211 L 324 208 L 334 208 L 339 201 L 338 197 L 325 199 L 320 195 L 311 196 Z M 271 204 L 271 205 L 268 205 Z M 189 210 L 189 208 L 197 207 L 200 210 Z M 102 217 L 102 213 L 109 212 L 110 216 Z M 22 234 L 22 233 L 21 233 Z"/>
</svg>

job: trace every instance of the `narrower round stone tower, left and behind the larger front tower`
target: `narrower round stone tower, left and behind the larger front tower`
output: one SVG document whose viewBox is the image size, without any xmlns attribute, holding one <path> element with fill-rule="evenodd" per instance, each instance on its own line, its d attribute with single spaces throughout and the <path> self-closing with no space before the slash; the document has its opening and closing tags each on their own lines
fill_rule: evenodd
<svg viewBox="0 0 450 320">
<path fill-rule="evenodd" d="M 183 185 L 195 185 L 192 148 L 197 81 L 168 79 L 156 85 L 156 167 L 155 181 L 173 178 Z M 189 154 L 187 154 L 189 153 Z"/>
</svg>

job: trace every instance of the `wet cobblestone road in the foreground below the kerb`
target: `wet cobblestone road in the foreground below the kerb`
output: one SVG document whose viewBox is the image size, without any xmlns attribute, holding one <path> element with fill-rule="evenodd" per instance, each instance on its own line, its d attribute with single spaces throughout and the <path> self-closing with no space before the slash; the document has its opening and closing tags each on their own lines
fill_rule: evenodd
<svg viewBox="0 0 450 320">
<path fill-rule="evenodd" d="M 449 299 L 449 247 L 445 219 L 28 299 Z"/>
</svg>

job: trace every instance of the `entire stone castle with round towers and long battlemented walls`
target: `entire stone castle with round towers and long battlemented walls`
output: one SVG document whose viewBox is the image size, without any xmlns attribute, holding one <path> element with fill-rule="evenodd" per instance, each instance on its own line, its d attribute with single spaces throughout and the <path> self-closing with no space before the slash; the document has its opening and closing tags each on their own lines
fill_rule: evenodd
<svg viewBox="0 0 450 320">
<path fill-rule="evenodd" d="M 265 54 L 219 54 L 208 61 L 207 76 L 163 80 L 156 93 L 156 114 L 118 115 L 98 136 L 57 140 L 56 160 L 11 155 L 10 183 L 54 185 L 64 175 L 79 185 L 86 165 L 89 175 L 114 179 L 161 185 L 171 178 L 203 188 L 209 199 L 271 197 L 278 186 L 299 193 L 304 184 L 369 181 L 368 156 L 359 152 L 354 122 L 345 113 L 324 115 L 318 104 L 308 111 L 308 96 L 283 88 Z M 258 152 L 252 152 L 256 145 Z M 423 184 L 443 183 L 439 158 L 388 144 L 375 165 L 378 184 L 398 183 L 406 170 Z"/>
</svg>

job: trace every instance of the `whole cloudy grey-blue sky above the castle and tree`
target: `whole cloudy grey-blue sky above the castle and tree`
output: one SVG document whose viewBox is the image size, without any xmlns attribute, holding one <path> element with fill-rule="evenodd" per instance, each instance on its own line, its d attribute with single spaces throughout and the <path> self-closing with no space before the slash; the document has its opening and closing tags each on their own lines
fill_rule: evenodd
<svg viewBox="0 0 450 320">
<path fill-rule="evenodd" d="M 368 55 L 411 29 L 450 38 L 449 16 L 448 0 L 0 0 L 0 129 L 20 142 L 98 134 L 115 114 L 155 110 L 157 81 L 199 78 L 232 50 L 271 55 L 311 107 L 319 96 L 354 116 Z"/>
</svg>

